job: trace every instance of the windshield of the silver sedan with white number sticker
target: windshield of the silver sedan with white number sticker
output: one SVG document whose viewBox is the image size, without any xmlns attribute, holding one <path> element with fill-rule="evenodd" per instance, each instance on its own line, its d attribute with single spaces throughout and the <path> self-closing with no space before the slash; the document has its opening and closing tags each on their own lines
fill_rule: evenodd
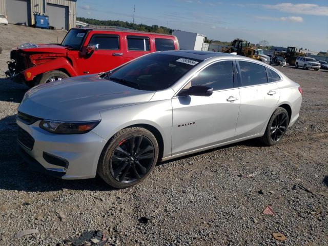
<svg viewBox="0 0 328 246">
<path fill-rule="evenodd" d="M 114 70 L 107 79 L 139 90 L 163 90 L 200 62 L 177 55 L 153 53 Z"/>
</svg>

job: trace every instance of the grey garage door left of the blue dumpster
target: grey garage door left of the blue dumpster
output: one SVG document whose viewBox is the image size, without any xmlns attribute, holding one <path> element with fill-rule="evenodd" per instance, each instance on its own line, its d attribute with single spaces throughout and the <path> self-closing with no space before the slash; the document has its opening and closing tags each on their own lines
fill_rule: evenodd
<svg viewBox="0 0 328 246">
<path fill-rule="evenodd" d="M 30 1 L 9 0 L 6 2 L 8 22 L 12 24 L 30 25 Z"/>
</svg>

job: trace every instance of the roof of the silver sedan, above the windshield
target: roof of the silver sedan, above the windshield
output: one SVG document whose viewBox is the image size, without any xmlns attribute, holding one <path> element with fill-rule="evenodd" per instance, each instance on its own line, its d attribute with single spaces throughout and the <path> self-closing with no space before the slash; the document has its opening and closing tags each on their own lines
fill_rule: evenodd
<svg viewBox="0 0 328 246">
<path fill-rule="evenodd" d="M 222 52 L 197 51 L 197 50 L 172 50 L 172 51 L 159 51 L 157 53 L 163 53 L 163 54 L 165 53 L 168 55 L 182 56 L 182 57 L 197 59 L 197 60 L 207 60 L 213 57 L 236 58 L 237 56 L 237 55 L 222 53 Z"/>
</svg>

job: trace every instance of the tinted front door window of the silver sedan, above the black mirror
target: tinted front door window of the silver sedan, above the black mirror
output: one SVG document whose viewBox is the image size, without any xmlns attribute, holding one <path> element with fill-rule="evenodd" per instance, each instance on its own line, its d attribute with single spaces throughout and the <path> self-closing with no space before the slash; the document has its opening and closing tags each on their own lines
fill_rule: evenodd
<svg viewBox="0 0 328 246">
<path fill-rule="evenodd" d="M 191 80 L 189 86 L 208 86 L 214 91 L 231 89 L 234 85 L 233 64 L 231 60 L 219 61 L 203 69 Z"/>
</svg>

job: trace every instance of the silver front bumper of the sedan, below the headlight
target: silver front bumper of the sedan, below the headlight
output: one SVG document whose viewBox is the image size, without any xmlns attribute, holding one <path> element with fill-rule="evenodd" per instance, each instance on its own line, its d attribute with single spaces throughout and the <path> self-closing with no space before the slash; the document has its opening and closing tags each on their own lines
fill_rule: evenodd
<svg viewBox="0 0 328 246">
<path fill-rule="evenodd" d="M 32 125 L 26 125 L 19 119 L 16 122 L 18 127 L 34 139 L 32 149 L 17 140 L 18 153 L 33 170 L 62 179 L 85 179 L 96 176 L 99 156 L 106 144 L 105 139 L 92 131 L 85 134 L 60 135 L 39 128 L 39 121 Z M 65 160 L 67 165 L 54 165 L 45 154 Z"/>
</svg>

